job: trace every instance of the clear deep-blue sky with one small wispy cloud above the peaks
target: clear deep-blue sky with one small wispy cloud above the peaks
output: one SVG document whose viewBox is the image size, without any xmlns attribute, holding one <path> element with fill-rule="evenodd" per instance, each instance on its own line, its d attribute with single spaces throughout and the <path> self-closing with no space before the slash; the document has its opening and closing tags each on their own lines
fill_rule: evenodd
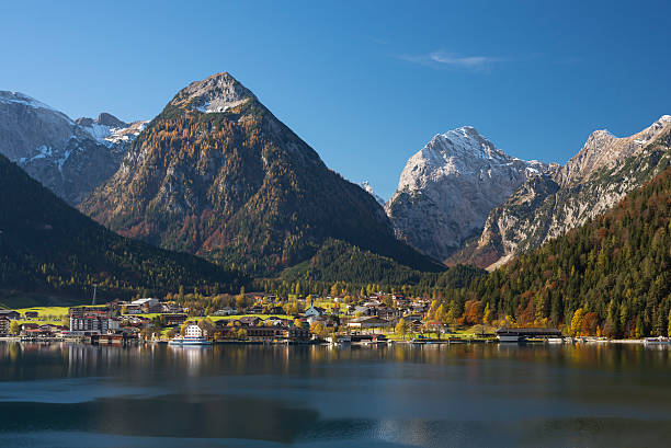
<svg viewBox="0 0 671 448">
<path fill-rule="evenodd" d="M 564 163 L 594 129 L 671 114 L 663 1 L 13 3 L 0 90 L 132 120 L 229 71 L 385 198 L 412 153 L 458 126 Z"/>
</svg>

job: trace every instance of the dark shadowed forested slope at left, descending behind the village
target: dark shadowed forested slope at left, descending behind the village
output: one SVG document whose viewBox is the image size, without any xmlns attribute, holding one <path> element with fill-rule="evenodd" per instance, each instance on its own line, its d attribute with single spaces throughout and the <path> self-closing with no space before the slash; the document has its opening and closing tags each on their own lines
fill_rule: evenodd
<svg viewBox="0 0 671 448">
<path fill-rule="evenodd" d="M 0 289 L 82 298 L 237 291 L 247 279 L 184 253 L 117 236 L 0 156 Z"/>
</svg>

